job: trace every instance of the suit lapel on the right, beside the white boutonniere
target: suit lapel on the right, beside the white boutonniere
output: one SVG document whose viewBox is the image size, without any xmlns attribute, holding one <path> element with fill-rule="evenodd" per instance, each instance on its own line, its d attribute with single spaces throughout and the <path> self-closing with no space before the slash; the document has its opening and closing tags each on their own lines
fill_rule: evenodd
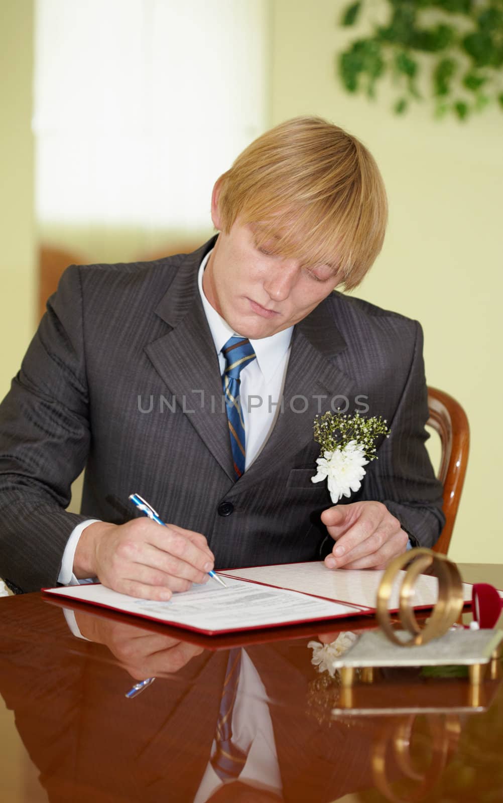
<svg viewBox="0 0 503 803">
<path fill-rule="evenodd" d="M 333 359 L 344 349 L 346 341 L 334 323 L 328 300 L 296 325 L 284 383 L 283 411 L 264 449 L 239 479 L 242 489 L 264 479 L 266 472 L 281 471 L 297 452 L 313 442 L 314 418 L 330 410 L 334 397 L 341 397 L 341 408 L 347 398 L 349 410 L 352 409 L 356 385 Z"/>
</svg>

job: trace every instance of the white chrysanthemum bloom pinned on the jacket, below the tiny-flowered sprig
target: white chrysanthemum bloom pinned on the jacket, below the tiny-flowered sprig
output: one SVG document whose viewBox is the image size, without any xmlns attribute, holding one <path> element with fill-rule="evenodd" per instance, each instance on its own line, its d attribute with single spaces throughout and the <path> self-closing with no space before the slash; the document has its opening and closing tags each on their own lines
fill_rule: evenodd
<svg viewBox="0 0 503 803">
<path fill-rule="evenodd" d="M 343 496 L 350 496 L 359 490 L 365 476 L 363 467 L 369 461 L 365 459 L 363 446 L 350 441 L 344 449 L 325 451 L 316 462 L 317 474 L 311 477 L 311 482 L 321 483 L 326 478 L 330 499 L 337 504 Z"/>
</svg>

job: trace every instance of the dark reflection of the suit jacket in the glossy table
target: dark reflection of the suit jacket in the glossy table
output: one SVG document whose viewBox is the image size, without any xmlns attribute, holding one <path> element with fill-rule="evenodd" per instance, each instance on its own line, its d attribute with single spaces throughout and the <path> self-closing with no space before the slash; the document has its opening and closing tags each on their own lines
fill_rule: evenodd
<svg viewBox="0 0 503 803">
<path fill-rule="evenodd" d="M 39 602 L 39 627 L 29 618 L 39 638 L 13 637 L 16 617 L 27 629 L 27 606 L 15 602 L 0 622 L 0 694 L 51 803 L 193 801 L 215 736 L 227 650 L 205 652 L 127 700 L 128 673 L 103 646 L 70 637 L 61 609 Z M 371 785 L 375 726 L 329 727 L 307 714 L 316 675 L 307 641 L 246 649 L 272 701 L 284 800 L 317 803 Z"/>
</svg>

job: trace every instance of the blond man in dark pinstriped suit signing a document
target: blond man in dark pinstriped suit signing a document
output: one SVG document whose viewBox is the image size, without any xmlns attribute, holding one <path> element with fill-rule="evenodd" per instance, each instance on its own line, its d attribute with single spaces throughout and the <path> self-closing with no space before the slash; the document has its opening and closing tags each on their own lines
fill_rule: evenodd
<svg viewBox="0 0 503 803">
<path fill-rule="evenodd" d="M 72 266 L 49 300 L 0 408 L 0 576 L 14 589 L 98 577 L 167 599 L 214 566 L 378 568 L 437 540 L 421 328 L 333 292 L 382 247 L 370 153 L 324 120 L 290 120 L 219 178 L 211 211 L 219 234 L 194 254 Z M 231 377 L 236 348 L 247 365 Z M 311 482 L 313 419 L 337 407 L 391 435 L 333 506 Z M 67 513 L 84 467 L 82 512 Z M 131 520 L 133 491 L 167 528 Z"/>
</svg>

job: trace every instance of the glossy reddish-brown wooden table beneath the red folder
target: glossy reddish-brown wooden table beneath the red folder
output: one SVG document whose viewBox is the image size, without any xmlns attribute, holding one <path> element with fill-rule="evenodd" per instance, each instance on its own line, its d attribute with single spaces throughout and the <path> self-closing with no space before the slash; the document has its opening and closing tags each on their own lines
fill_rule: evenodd
<svg viewBox="0 0 503 803">
<path fill-rule="evenodd" d="M 460 568 L 468 581 L 503 587 L 502 566 Z M 279 773 L 276 785 L 265 776 L 223 785 L 211 801 L 503 801 L 501 671 L 476 694 L 466 679 L 388 671 L 344 700 L 311 662 L 308 642 L 329 626 L 215 641 L 84 606 L 74 615 L 89 641 L 72 635 L 68 609 L 40 594 L 0 600 L 6 803 L 192 803 L 229 649 L 241 645 L 260 678 L 245 710 L 268 710 Z M 370 624 L 351 620 L 346 630 Z M 155 683 L 125 698 L 150 675 Z"/>
</svg>

